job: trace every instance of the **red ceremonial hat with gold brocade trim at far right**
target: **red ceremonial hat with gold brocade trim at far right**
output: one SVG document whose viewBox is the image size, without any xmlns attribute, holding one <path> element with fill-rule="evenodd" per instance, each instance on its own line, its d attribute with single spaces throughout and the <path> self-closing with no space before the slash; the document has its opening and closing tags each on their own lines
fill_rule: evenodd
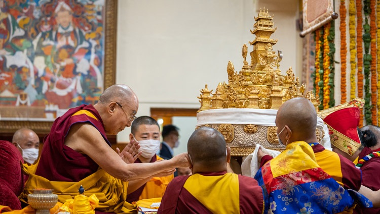
<svg viewBox="0 0 380 214">
<path fill-rule="evenodd" d="M 350 156 L 361 146 L 359 119 L 360 109 L 356 106 L 334 111 L 323 119 L 328 127 L 331 144 Z"/>
</svg>

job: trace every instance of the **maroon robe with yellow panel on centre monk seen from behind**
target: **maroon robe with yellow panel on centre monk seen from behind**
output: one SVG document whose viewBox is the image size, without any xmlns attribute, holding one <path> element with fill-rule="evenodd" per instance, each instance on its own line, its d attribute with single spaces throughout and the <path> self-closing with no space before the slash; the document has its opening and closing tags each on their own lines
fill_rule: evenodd
<svg viewBox="0 0 380 214">
<path fill-rule="evenodd" d="M 262 189 L 253 178 L 205 172 L 175 177 L 158 213 L 262 213 Z"/>
</svg>

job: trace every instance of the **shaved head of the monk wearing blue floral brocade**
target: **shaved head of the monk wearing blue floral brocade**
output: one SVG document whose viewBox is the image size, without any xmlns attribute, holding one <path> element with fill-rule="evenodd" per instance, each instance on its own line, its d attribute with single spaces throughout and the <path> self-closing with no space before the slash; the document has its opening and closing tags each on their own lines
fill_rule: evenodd
<svg viewBox="0 0 380 214">
<path fill-rule="evenodd" d="M 281 105 L 277 112 L 276 124 L 279 129 L 287 125 L 299 140 L 315 135 L 317 112 L 314 105 L 306 98 L 296 97 Z"/>
</svg>

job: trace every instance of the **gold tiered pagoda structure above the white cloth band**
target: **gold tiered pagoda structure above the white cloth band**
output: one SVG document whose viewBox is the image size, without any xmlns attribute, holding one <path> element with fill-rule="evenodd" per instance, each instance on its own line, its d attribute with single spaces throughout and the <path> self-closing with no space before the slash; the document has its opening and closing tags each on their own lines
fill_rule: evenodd
<svg viewBox="0 0 380 214">
<path fill-rule="evenodd" d="M 273 28 L 273 19 L 265 9 L 255 17 L 254 29 L 251 30 L 256 38 L 249 42 L 253 45 L 251 64 L 247 62 L 248 46 L 243 45 L 243 67 L 238 73 L 234 65 L 227 64 L 228 83 L 219 83 L 215 93 L 207 88 L 201 90 L 198 97 L 201 108 L 198 112 L 209 109 L 252 108 L 252 109 L 279 109 L 283 102 L 293 97 L 305 96 L 305 84 L 300 84 L 292 68 L 281 74 L 280 62 L 282 52 L 273 51 L 273 45 L 278 40 L 270 36 L 276 31 Z M 307 96 L 315 106 L 318 100 L 312 92 Z"/>
</svg>

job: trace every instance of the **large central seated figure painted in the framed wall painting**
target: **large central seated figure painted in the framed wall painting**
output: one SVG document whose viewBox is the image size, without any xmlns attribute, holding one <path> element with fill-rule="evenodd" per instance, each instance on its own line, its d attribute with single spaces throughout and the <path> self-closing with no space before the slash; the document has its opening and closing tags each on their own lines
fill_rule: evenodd
<svg viewBox="0 0 380 214">
<path fill-rule="evenodd" d="M 41 92 L 49 103 L 59 109 L 77 105 L 75 99 L 83 92 L 85 77 L 92 75 L 99 82 L 101 74 L 94 66 L 93 42 L 85 38 L 85 32 L 75 26 L 73 11 L 64 1 L 54 10 L 55 25 L 41 32 L 35 39 L 34 65 L 39 68 Z"/>
</svg>

